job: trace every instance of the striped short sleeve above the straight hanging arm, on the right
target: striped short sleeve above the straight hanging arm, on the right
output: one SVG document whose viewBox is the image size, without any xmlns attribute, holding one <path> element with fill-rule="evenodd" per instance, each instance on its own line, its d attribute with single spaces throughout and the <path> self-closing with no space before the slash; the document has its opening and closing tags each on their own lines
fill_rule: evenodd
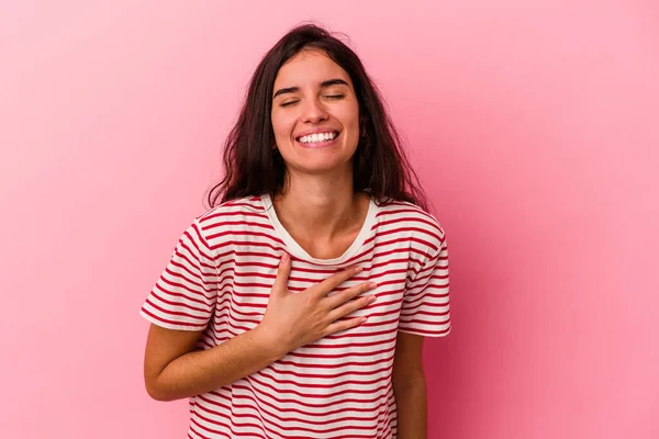
<svg viewBox="0 0 659 439">
<path fill-rule="evenodd" d="M 407 284 L 399 330 L 425 337 L 443 337 L 450 333 L 448 246 L 445 235 Z"/>
</svg>

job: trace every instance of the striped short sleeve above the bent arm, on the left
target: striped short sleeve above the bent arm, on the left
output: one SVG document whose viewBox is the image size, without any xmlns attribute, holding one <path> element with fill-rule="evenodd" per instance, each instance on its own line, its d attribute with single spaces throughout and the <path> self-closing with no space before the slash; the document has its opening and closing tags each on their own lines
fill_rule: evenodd
<svg viewBox="0 0 659 439">
<path fill-rule="evenodd" d="M 203 330 L 217 296 L 217 270 L 212 250 L 196 221 L 181 235 L 169 263 L 142 305 L 150 323 L 182 330 Z"/>
</svg>

